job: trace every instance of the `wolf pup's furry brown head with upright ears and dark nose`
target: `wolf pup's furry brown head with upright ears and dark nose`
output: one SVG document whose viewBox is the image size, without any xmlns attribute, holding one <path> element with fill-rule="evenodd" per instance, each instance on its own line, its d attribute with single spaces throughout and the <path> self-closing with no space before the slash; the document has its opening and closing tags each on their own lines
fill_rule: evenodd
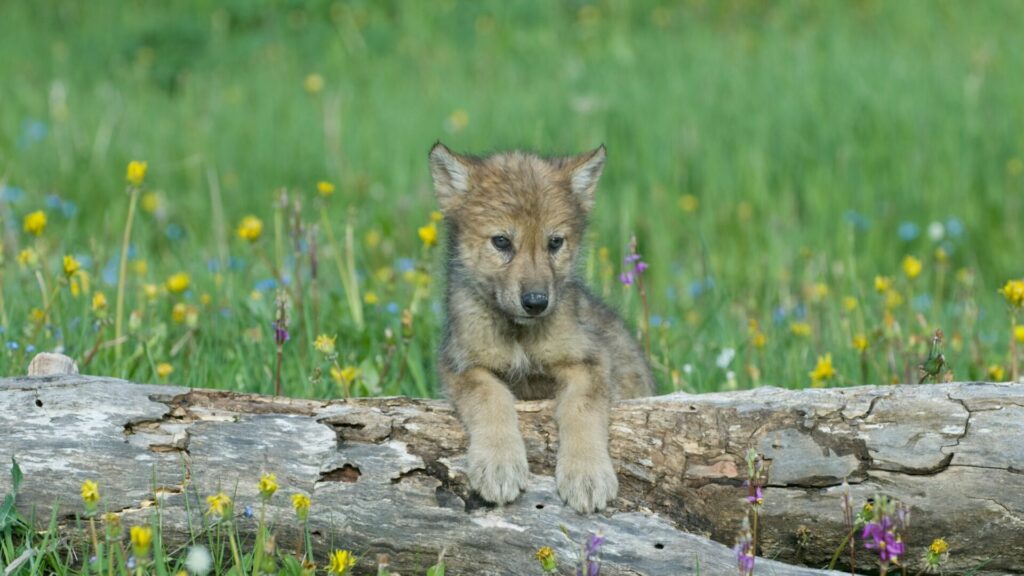
<svg viewBox="0 0 1024 576">
<path fill-rule="evenodd" d="M 477 158 L 434 145 L 430 170 L 460 285 L 517 324 L 551 314 L 572 276 L 604 156 L 601 146 L 568 158 Z"/>
</svg>

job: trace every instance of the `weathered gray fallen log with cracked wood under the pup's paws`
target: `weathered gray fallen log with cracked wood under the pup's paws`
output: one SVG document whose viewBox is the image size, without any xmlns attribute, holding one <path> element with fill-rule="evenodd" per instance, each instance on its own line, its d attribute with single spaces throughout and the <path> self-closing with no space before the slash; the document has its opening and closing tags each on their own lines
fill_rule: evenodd
<svg viewBox="0 0 1024 576">
<path fill-rule="evenodd" d="M 166 530 L 180 540 L 186 498 L 194 521 L 218 489 L 237 491 L 241 511 L 257 503 L 260 472 L 272 471 L 282 485 L 269 510 L 279 545 L 296 546 L 288 496 L 301 491 L 312 497 L 317 548 L 356 550 L 366 568 L 387 553 L 393 569 L 422 574 L 446 547 L 450 574 L 539 573 L 532 554 L 551 545 L 567 569 L 564 525 L 577 540 L 587 531 L 607 537 L 602 574 L 692 574 L 699 563 L 701 574 L 718 575 L 735 573 L 728 545 L 743 510 L 743 455 L 755 448 L 771 459 L 768 558 L 827 564 L 845 532 L 847 479 L 857 504 L 884 492 L 911 506 L 912 567 L 942 536 L 946 573 L 987 562 L 977 574 L 1024 574 L 1024 385 L 766 387 L 623 402 L 610 443 L 620 498 L 590 517 L 563 507 L 555 492 L 551 403 L 518 410 L 534 476 L 518 501 L 497 509 L 468 492 L 465 437 L 442 401 L 316 402 L 77 375 L 0 379 L 0 461 L 16 456 L 25 470 L 24 512 L 46 517 L 59 502 L 68 524 L 86 479 L 128 524 L 152 513 L 155 485 Z M 0 493 L 9 488 L 0 475 Z M 254 524 L 240 520 L 244 530 Z M 867 563 L 859 557 L 858 566 Z M 756 573 L 824 574 L 763 559 Z"/>
</svg>

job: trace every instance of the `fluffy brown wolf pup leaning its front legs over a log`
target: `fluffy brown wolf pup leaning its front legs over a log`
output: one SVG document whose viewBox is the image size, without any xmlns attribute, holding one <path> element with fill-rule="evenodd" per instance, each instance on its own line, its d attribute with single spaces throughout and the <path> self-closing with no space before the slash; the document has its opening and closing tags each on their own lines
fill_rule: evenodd
<svg viewBox="0 0 1024 576">
<path fill-rule="evenodd" d="M 516 399 L 556 399 L 558 494 L 590 512 L 618 492 L 611 401 L 654 388 L 622 320 L 577 272 L 604 158 L 603 146 L 569 158 L 430 151 L 449 233 L 438 370 L 469 434 L 470 484 L 497 504 L 529 477 Z"/>
</svg>

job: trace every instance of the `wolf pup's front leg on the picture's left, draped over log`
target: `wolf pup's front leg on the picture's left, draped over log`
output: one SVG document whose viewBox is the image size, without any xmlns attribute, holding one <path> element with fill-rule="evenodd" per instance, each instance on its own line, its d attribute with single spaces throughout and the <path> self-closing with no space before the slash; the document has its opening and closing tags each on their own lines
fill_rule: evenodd
<svg viewBox="0 0 1024 576">
<path fill-rule="evenodd" d="M 515 398 L 490 371 L 471 368 L 445 373 L 456 411 L 469 434 L 469 484 L 496 504 L 515 500 L 526 489 L 529 467 L 519 434 Z"/>
</svg>

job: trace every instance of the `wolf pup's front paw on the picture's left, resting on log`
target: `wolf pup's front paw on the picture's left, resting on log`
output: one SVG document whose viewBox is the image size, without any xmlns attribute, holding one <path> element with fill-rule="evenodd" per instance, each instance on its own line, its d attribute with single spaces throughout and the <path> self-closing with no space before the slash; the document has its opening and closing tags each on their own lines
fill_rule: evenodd
<svg viewBox="0 0 1024 576">
<path fill-rule="evenodd" d="M 469 447 L 469 484 L 484 500 L 507 504 L 526 489 L 529 466 L 522 439 L 474 442 Z"/>
</svg>

